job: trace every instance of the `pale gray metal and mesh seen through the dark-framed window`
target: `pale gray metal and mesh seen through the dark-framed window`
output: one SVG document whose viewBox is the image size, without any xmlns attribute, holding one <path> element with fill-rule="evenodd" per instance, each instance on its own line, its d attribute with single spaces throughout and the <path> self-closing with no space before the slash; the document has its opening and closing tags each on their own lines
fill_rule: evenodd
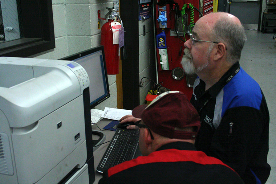
<svg viewBox="0 0 276 184">
<path fill-rule="evenodd" d="M 23 38 L 20 0 L 0 0 L 0 41 Z"/>
</svg>

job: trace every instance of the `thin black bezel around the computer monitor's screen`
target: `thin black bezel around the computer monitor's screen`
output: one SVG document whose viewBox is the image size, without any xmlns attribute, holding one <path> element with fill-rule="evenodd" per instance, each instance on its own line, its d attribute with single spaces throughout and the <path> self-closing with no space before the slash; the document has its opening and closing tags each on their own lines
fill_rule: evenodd
<svg viewBox="0 0 276 184">
<path fill-rule="evenodd" d="M 67 57 L 59 59 L 59 60 L 73 61 L 75 59 L 81 58 L 85 55 L 89 55 L 89 54 L 92 54 L 97 51 L 102 51 L 102 53 L 103 53 L 104 75 L 105 75 L 105 79 L 106 79 L 105 81 L 106 81 L 106 87 L 107 87 L 107 94 L 104 95 L 102 98 L 98 99 L 97 101 L 95 101 L 93 104 L 90 103 L 90 109 L 94 108 L 95 106 L 99 105 L 101 102 L 103 102 L 104 100 L 106 100 L 110 97 L 108 75 L 107 75 L 106 61 L 105 61 L 105 55 L 104 55 L 104 46 L 101 45 L 98 47 L 93 47 L 91 49 L 87 49 L 85 51 L 81 51 L 81 52 L 78 52 L 78 53 L 75 53 L 75 54 L 72 54 Z M 89 90 L 91 90 L 91 89 L 89 89 Z M 90 98 L 90 96 L 89 96 L 89 98 Z"/>
</svg>

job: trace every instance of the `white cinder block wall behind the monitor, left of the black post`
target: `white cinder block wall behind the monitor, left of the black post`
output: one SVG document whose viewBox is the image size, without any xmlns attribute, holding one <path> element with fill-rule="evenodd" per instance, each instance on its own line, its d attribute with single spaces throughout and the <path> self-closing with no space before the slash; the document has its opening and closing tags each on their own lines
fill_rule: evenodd
<svg viewBox="0 0 276 184">
<path fill-rule="evenodd" d="M 52 0 L 52 5 L 56 47 L 31 58 L 60 59 L 100 45 L 98 10 L 104 17 L 108 13 L 106 7 L 113 7 L 113 0 Z M 100 20 L 101 26 L 105 22 Z M 117 107 L 116 75 L 108 75 L 108 82 L 111 97 L 97 109 Z"/>
</svg>

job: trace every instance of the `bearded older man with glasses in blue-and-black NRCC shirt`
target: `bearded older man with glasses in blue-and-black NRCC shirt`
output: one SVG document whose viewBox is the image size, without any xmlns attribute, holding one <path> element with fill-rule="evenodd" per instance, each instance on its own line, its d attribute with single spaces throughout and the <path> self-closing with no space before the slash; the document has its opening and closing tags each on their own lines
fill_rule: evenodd
<svg viewBox="0 0 276 184">
<path fill-rule="evenodd" d="M 201 117 L 196 148 L 232 167 L 245 183 L 265 183 L 269 112 L 260 86 L 238 62 L 245 42 L 237 17 L 207 14 L 184 43 L 181 63 L 198 75 L 191 98 Z"/>
</svg>

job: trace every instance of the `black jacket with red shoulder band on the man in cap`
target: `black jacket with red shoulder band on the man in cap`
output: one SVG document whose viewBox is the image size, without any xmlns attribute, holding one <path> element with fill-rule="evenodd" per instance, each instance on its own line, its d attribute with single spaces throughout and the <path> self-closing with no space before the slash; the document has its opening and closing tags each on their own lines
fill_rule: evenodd
<svg viewBox="0 0 276 184">
<path fill-rule="evenodd" d="M 161 146 L 148 156 L 123 162 L 103 173 L 99 183 L 243 183 L 229 166 L 196 151 L 188 142 Z"/>
</svg>

